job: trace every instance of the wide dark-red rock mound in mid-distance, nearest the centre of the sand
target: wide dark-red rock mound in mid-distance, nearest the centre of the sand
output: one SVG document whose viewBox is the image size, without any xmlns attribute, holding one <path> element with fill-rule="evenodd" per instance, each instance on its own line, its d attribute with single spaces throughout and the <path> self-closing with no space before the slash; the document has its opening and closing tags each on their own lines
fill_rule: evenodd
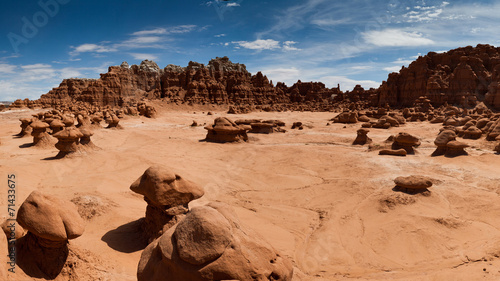
<svg viewBox="0 0 500 281">
<path fill-rule="evenodd" d="M 205 129 L 208 131 L 205 138 L 206 141 L 235 142 L 247 141 L 247 131 L 251 127 L 238 125 L 226 117 L 218 117 L 214 120 L 213 125 L 205 126 Z"/>
</svg>

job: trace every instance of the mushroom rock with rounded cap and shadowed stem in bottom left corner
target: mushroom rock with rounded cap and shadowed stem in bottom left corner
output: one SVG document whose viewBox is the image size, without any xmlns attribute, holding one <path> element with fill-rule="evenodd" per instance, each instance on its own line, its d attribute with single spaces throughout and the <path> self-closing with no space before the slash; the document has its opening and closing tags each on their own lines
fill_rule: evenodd
<svg viewBox="0 0 500 281">
<path fill-rule="evenodd" d="M 68 201 L 32 192 L 19 207 L 17 222 L 28 233 L 17 241 L 18 264 L 24 272 L 55 278 L 68 256 L 68 240 L 83 234 L 84 222 Z"/>
</svg>

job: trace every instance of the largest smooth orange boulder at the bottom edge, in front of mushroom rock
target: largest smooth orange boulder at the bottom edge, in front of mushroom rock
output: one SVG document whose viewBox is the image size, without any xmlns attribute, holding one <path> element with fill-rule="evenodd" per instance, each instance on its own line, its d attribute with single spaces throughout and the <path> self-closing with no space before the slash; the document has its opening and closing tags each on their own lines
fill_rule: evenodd
<svg viewBox="0 0 500 281">
<path fill-rule="evenodd" d="M 291 280 L 293 267 L 226 205 L 195 207 L 142 253 L 143 280 Z"/>
</svg>

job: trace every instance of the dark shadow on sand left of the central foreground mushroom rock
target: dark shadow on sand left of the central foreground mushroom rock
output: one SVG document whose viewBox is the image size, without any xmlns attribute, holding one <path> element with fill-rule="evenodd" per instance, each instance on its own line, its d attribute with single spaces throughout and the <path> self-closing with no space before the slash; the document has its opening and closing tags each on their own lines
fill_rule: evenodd
<svg viewBox="0 0 500 281">
<path fill-rule="evenodd" d="M 108 246 L 122 253 L 141 251 L 148 245 L 143 235 L 144 218 L 126 223 L 106 232 L 101 240 Z"/>
</svg>

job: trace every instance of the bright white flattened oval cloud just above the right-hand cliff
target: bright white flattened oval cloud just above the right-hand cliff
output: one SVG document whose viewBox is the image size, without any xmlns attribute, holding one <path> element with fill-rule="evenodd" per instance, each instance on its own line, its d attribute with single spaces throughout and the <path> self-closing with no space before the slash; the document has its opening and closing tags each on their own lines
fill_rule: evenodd
<svg viewBox="0 0 500 281">
<path fill-rule="evenodd" d="M 421 33 L 400 29 L 385 29 L 363 32 L 364 40 L 378 47 L 415 47 L 433 45 L 435 42 L 423 37 Z"/>
</svg>

